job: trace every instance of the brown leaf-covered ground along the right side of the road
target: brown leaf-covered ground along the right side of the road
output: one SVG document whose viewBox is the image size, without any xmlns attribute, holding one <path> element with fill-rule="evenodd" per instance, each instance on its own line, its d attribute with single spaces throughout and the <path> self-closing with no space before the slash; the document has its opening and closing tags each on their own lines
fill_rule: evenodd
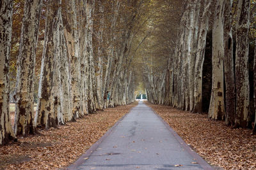
<svg viewBox="0 0 256 170">
<path fill-rule="evenodd" d="M 225 122 L 208 120 L 205 114 L 145 103 L 212 166 L 256 169 L 256 136 L 251 130 L 232 129 Z"/>
</svg>

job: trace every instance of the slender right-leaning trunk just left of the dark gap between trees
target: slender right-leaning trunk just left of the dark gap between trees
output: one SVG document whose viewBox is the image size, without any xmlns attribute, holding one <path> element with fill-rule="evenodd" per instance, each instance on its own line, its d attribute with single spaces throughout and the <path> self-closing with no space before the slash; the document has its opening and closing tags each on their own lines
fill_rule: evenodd
<svg viewBox="0 0 256 170">
<path fill-rule="evenodd" d="M 204 55 L 205 55 L 205 44 L 206 44 L 206 34 L 209 27 L 209 7 L 212 0 L 204 1 L 204 12 L 202 15 L 202 21 L 200 24 L 200 31 L 198 35 L 198 46 L 196 51 L 195 60 L 195 80 L 194 80 L 194 97 L 195 103 L 193 107 L 193 113 L 202 113 L 202 71 L 204 65 Z"/>
</svg>

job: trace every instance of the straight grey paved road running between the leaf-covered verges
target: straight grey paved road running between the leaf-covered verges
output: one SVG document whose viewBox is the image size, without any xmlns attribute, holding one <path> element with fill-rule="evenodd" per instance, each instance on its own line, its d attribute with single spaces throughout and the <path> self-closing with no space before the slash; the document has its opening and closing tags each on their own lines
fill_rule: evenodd
<svg viewBox="0 0 256 170">
<path fill-rule="evenodd" d="M 68 169 L 212 168 L 140 101 Z"/>
</svg>

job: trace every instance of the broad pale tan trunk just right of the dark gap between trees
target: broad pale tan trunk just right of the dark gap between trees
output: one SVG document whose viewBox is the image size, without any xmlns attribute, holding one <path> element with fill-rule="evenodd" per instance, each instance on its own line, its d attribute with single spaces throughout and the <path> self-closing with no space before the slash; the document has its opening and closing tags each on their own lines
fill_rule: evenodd
<svg viewBox="0 0 256 170">
<path fill-rule="evenodd" d="M 215 8 L 214 25 L 212 29 L 212 94 L 208 117 L 212 120 L 224 118 L 224 0 L 218 0 Z"/>
</svg>

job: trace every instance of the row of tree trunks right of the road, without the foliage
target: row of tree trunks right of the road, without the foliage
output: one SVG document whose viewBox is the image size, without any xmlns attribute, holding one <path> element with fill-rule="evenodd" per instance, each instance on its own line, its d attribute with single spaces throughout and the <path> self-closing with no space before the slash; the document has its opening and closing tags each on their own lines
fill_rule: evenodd
<svg viewBox="0 0 256 170">
<path fill-rule="evenodd" d="M 251 5 L 250 0 L 184 1 L 177 38 L 173 39 L 175 52 L 166 60 L 168 64 L 161 74 L 148 71 L 144 76 L 148 100 L 202 113 L 205 45 L 212 20 L 212 90 L 208 117 L 225 120 L 232 127 L 252 128 L 255 115 L 249 111 L 248 74 L 250 17 L 254 12 L 254 8 L 250 11 Z M 234 24 L 236 27 L 232 27 Z"/>
</svg>

